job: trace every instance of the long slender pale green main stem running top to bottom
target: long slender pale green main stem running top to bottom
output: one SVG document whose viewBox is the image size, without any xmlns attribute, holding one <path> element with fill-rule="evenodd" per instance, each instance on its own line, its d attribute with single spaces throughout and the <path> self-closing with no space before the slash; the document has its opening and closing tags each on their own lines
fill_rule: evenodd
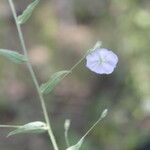
<svg viewBox="0 0 150 150">
<path fill-rule="evenodd" d="M 39 98 L 40 98 L 40 102 L 41 102 L 44 118 L 45 118 L 46 124 L 48 126 L 48 134 L 49 134 L 50 140 L 52 142 L 54 150 L 59 150 L 59 148 L 57 146 L 57 143 L 56 143 L 56 140 L 55 140 L 55 136 L 54 136 L 52 128 L 51 128 L 51 124 L 50 124 L 50 120 L 49 120 L 49 117 L 48 117 L 48 112 L 47 112 L 47 109 L 46 109 L 45 101 L 44 101 L 42 93 L 40 92 L 39 83 L 37 81 L 37 78 L 35 76 L 35 73 L 33 71 L 32 65 L 31 65 L 30 60 L 29 60 L 29 56 L 28 56 L 27 49 L 26 49 L 26 46 L 25 46 L 22 30 L 21 30 L 20 25 L 17 23 L 17 14 L 16 14 L 16 10 L 15 10 L 15 7 L 14 7 L 13 0 L 8 0 L 8 1 L 9 1 L 10 7 L 11 7 L 11 10 L 12 10 L 14 19 L 15 19 L 15 23 L 16 23 L 16 27 L 17 27 L 17 30 L 18 30 L 18 35 L 19 35 L 19 39 L 20 39 L 20 43 L 21 43 L 24 55 L 28 59 L 27 67 L 28 67 L 28 69 L 30 71 L 31 77 L 33 79 L 33 82 L 34 82 L 34 84 L 36 86 L 36 89 L 37 89 L 37 92 L 38 92 L 38 95 L 39 95 Z"/>
</svg>

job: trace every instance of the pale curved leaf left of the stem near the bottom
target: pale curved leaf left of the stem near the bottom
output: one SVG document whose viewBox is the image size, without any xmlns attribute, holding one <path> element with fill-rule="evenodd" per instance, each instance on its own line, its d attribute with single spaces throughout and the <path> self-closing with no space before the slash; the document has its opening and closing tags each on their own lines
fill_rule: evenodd
<svg viewBox="0 0 150 150">
<path fill-rule="evenodd" d="M 47 125 L 44 122 L 35 121 L 18 127 L 16 130 L 10 132 L 7 137 L 22 133 L 42 133 L 46 130 Z"/>
</svg>

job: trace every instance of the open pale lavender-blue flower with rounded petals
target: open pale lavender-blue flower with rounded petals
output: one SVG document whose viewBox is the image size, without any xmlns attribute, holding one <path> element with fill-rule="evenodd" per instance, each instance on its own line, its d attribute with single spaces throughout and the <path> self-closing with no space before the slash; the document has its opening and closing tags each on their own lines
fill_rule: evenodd
<svg viewBox="0 0 150 150">
<path fill-rule="evenodd" d="M 111 74 L 118 63 L 117 55 L 105 48 L 92 50 L 86 60 L 86 67 L 98 74 Z"/>
</svg>

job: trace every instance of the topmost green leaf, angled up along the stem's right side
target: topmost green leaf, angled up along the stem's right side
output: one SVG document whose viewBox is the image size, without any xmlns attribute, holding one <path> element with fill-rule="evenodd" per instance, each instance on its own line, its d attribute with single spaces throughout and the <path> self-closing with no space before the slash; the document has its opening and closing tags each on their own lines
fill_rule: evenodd
<svg viewBox="0 0 150 150">
<path fill-rule="evenodd" d="M 24 11 L 23 13 L 18 16 L 17 23 L 18 24 L 24 24 L 32 15 L 33 10 L 35 9 L 36 5 L 39 3 L 40 0 L 35 0 L 32 2 Z"/>
</svg>

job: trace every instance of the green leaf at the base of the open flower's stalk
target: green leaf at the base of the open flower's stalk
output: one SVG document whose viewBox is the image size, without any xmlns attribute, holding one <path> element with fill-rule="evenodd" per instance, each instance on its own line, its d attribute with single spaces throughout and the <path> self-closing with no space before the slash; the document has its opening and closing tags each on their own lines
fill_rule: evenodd
<svg viewBox="0 0 150 150">
<path fill-rule="evenodd" d="M 54 89 L 54 87 L 70 72 L 71 71 L 63 70 L 63 71 L 54 73 L 50 77 L 48 82 L 41 85 L 40 87 L 41 92 L 45 94 L 48 94 L 49 92 L 51 92 Z"/>
</svg>

